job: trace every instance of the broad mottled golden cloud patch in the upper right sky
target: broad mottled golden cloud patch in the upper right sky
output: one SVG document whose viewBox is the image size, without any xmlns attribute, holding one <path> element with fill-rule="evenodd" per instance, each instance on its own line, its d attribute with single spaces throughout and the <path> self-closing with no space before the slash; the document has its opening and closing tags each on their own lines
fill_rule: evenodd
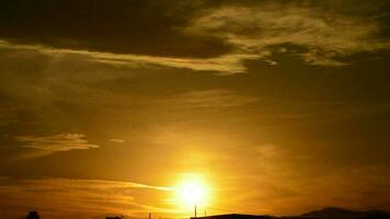
<svg viewBox="0 0 390 219">
<path fill-rule="evenodd" d="M 306 62 L 319 66 L 347 65 L 343 57 L 390 48 L 390 41 L 380 37 L 378 16 L 348 14 L 336 8 L 268 1 L 225 5 L 206 10 L 185 31 L 219 37 L 249 55 L 272 51 L 272 46 L 301 46 L 303 51 L 296 53 Z"/>
</svg>

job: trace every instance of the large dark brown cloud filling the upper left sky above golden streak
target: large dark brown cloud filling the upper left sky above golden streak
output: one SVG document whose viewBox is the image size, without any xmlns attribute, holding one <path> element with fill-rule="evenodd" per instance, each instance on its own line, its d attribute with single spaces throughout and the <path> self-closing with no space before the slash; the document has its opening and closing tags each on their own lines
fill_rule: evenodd
<svg viewBox="0 0 390 219">
<path fill-rule="evenodd" d="M 154 56 L 213 57 L 230 46 L 182 33 L 198 9 L 185 1 L 8 1 L 0 36 L 22 44 Z"/>
</svg>

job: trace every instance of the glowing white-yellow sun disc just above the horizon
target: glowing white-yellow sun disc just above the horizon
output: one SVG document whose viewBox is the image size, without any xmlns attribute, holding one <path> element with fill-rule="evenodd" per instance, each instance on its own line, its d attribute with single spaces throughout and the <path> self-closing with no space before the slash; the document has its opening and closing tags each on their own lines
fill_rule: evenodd
<svg viewBox="0 0 390 219">
<path fill-rule="evenodd" d="M 186 175 L 176 186 L 176 199 L 184 208 L 205 206 L 209 200 L 209 188 L 198 175 Z"/>
</svg>

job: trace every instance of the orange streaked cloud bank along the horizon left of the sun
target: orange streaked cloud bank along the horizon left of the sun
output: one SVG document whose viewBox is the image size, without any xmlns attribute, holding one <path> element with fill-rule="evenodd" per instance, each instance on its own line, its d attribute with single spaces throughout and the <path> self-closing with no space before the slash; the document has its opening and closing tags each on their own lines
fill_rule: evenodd
<svg viewBox="0 0 390 219">
<path fill-rule="evenodd" d="M 72 215 L 91 218 L 110 214 L 172 211 L 162 203 L 153 206 L 149 200 L 142 199 L 146 194 L 148 197 L 169 195 L 171 188 L 164 186 L 77 178 L 0 178 L 0 200 L 4 207 L 2 212 L 4 215 L 26 209 L 36 209 L 47 218 L 66 218 Z"/>
</svg>

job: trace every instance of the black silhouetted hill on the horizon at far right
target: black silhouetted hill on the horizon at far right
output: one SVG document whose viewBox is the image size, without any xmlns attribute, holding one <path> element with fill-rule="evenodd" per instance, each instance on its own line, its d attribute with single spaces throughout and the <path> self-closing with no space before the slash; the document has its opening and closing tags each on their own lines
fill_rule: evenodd
<svg viewBox="0 0 390 219">
<path fill-rule="evenodd" d="M 354 211 L 343 208 L 324 208 L 301 215 L 303 218 L 320 219 L 390 219 L 390 214 L 383 210 Z"/>
</svg>

